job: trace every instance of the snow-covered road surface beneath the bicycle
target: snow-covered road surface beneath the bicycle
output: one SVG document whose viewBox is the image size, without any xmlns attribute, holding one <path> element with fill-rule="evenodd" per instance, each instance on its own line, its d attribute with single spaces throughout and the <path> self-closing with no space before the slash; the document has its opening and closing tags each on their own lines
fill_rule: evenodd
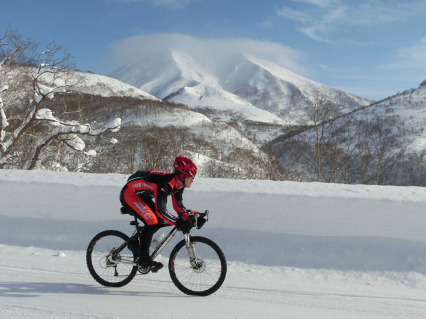
<svg viewBox="0 0 426 319">
<path fill-rule="evenodd" d="M 165 268 L 121 288 L 98 285 L 80 251 L 0 246 L 0 318 L 425 318 L 413 272 L 337 272 L 229 263 L 225 284 L 186 296 Z M 165 257 L 161 257 L 166 261 Z"/>
</svg>

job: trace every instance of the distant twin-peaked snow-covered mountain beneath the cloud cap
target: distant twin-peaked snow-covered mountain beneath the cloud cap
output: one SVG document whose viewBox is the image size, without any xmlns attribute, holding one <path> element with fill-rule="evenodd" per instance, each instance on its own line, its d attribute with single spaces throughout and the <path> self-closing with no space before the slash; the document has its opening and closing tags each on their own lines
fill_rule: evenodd
<svg viewBox="0 0 426 319">
<path fill-rule="evenodd" d="M 111 76 L 159 99 L 210 108 L 224 121 L 298 125 L 306 123 L 302 107 L 315 97 L 339 106 L 341 113 L 372 102 L 244 54 L 205 64 L 185 51 L 165 51 L 126 64 Z"/>
</svg>

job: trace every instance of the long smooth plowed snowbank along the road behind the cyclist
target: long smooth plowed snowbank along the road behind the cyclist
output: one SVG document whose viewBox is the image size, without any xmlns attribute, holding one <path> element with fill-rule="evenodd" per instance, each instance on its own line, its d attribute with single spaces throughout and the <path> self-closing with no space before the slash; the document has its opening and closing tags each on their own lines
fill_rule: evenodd
<svg viewBox="0 0 426 319">
<path fill-rule="evenodd" d="M 0 170 L 0 244 L 85 250 L 106 228 L 130 234 L 118 199 L 126 178 Z M 421 187 L 197 178 L 184 203 L 210 210 L 210 224 L 194 232 L 230 261 L 426 274 Z"/>
</svg>

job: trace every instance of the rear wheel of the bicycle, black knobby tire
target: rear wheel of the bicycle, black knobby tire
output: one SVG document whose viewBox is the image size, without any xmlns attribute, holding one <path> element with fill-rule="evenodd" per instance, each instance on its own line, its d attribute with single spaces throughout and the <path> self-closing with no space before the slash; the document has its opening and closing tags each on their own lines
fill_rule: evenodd
<svg viewBox="0 0 426 319">
<path fill-rule="evenodd" d="M 128 241 L 120 231 L 102 231 L 90 241 L 87 248 L 87 268 L 93 279 L 101 285 L 122 287 L 131 282 L 137 272 L 137 255 L 128 247 L 117 248 Z"/>
</svg>

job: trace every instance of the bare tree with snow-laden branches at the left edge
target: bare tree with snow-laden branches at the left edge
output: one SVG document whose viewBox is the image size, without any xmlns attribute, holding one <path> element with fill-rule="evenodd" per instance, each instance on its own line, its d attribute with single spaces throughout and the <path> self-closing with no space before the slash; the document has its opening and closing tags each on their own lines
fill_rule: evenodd
<svg viewBox="0 0 426 319">
<path fill-rule="evenodd" d="M 41 167 L 43 150 L 52 152 L 59 144 L 84 155 L 83 165 L 96 152 L 85 150 L 82 136 L 116 132 L 121 119 L 97 125 L 47 108 L 47 100 L 70 94 L 82 79 L 58 45 L 51 43 L 38 54 L 33 50 L 33 41 L 21 40 L 10 27 L 0 38 L 0 168 Z"/>
</svg>

